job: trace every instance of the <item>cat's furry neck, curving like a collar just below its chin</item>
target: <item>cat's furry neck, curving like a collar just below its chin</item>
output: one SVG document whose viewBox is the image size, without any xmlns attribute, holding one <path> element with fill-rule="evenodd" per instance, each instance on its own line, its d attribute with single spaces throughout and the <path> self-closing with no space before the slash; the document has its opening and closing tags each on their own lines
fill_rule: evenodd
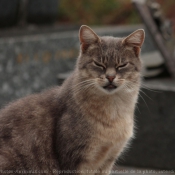
<svg viewBox="0 0 175 175">
<path fill-rule="evenodd" d="M 119 117 L 127 117 L 128 114 L 133 115 L 139 86 L 132 92 L 121 89 L 114 94 L 107 94 L 97 87 L 83 88 L 81 81 L 75 74 L 70 77 L 67 93 L 71 93 L 72 103 L 75 103 L 84 115 L 108 123 Z"/>
</svg>

